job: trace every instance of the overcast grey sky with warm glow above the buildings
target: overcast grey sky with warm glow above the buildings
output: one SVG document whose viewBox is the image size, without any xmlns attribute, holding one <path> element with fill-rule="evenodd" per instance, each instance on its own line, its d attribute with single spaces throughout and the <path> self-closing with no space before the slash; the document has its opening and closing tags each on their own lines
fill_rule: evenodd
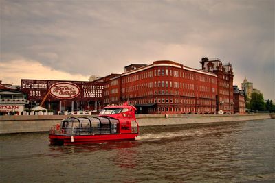
<svg viewBox="0 0 275 183">
<path fill-rule="evenodd" d="M 0 80 L 88 80 L 132 63 L 230 62 L 275 99 L 274 1 L 1 1 Z"/>
</svg>

